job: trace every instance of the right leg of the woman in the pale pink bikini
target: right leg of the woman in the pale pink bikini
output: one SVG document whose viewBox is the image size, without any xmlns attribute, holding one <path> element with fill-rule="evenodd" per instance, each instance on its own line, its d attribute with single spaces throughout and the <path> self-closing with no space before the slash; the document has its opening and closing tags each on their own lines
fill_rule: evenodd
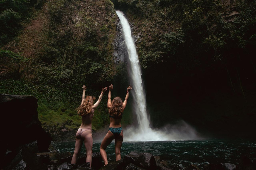
<svg viewBox="0 0 256 170">
<path fill-rule="evenodd" d="M 92 167 L 92 131 L 86 130 L 81 136 L 84 139 L 86 149 L 86 162 L 90 162 L 90 167 Z"/>
</svg>

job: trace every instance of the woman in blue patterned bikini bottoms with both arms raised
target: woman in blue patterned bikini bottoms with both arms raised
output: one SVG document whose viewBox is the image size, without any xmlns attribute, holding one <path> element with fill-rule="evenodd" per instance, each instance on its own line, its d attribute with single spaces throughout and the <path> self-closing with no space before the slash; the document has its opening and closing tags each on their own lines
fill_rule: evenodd
<svg viewBox="0 0 256 170">
<path fill-rule="evenodd" d="M 116 161 L 121 159 L 121 146 L 124 138 L 123 130 L 121 127 L 121 119 L 122 119 L 123 111 L 124 111 L 124 108 L 126 107 L 127 100 L 129 97 L 129 92 L 132 89 L 132 86 L 130 85 L 129 87 L 127 87 L 127 94 L 124 102 L 122 102 L 122 99 L 120 97 L 115 97 L 111 102 L 112 89 L 113 89 L 113 85 L 111 84 L 109 86 L 109 92 L 108 92 L 108 112 L 110 114 L 109 115 L 110 125 L 108 129 L 108 133 L 106 134 L 106 136 L 104 137 L 100 145 L 100 154 L 102 156 L 102 159 L 105 165 L 108 164 L 107 153 L 105 149 L 114 139 L 115 139 Z"/>
</svg>

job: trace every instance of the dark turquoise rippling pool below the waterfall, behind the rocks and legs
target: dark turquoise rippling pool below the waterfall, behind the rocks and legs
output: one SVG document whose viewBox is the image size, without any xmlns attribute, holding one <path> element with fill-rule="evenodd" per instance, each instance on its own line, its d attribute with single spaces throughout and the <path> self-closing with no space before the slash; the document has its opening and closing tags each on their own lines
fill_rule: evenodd
<svg viewBox="0 0 256 170">
<path fill-rule="evenodd" d="M 75 141 L 55 143 L 59 152 L 73 153 Z M 93 152 L 100 151 L 100 142 L 93 143 Z M 256 141 L 245 140 L 179 140 L 155 142 L 123 142 L 122 158 L 131 151 L 150 152 L 162 160 L 176 163 L 182 167 L 196 164 L 201 167 L 207 163 L 238 164 L 244 153 L 256 153 Z M 112 142 L 106 149 L 108 161 L 115 160 L 115 145 Z M 85 154 L 85 148 L 81 154 Z"/>
</svg>

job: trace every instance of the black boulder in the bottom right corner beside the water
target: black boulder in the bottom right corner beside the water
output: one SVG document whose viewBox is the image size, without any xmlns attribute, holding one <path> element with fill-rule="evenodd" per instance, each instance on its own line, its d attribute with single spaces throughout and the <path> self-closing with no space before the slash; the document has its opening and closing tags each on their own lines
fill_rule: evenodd
<svg viewBox="0 0 256 170">
<path fill-rule="evenodd" d="M 255 170 L 256 169 L 256 154 L 243 154 L 239 158 L 239 169 Z"/>
</svg>

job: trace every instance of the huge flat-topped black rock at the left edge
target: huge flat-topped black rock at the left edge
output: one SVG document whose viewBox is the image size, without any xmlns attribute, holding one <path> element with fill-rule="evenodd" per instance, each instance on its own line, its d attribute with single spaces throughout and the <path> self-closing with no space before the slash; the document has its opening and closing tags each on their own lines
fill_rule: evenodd
<svg viewBox="0 0 256 170">
<path fill-rule="evenodd" d="M 52 137 L 38 120 L 37 99 L 33 96 L 0 94 L 2 142 L 0 168 L 6 166 L 24 144 L 37 141 L 38 151 L 47 152 Z M 6 150 L 11 152 L 6 155 Z M 8 156 L 9 155 L 9 156 Z"/>
</svg>

